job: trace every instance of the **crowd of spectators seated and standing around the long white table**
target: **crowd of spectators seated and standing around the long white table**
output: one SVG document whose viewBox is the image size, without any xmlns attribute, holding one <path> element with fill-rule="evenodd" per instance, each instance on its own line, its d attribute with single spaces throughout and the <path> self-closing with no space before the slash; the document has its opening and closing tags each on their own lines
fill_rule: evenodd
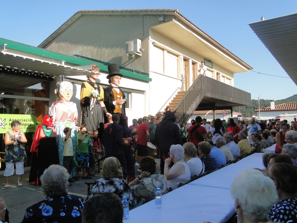
<svg viewBox="0 0 297 223">
<path fill-rule="evenodd" d="M 227 122 L 220 119 L 207 122 L 206 119 L 197 116 L 186 127 L 185 123 L 179 123 L 178 117 L 170 110 L 164 113 L 157 113 L 154 116 L 148 115 L 133 119 L 132 125 L 129 127 L 125 115 L 119 116 L 113 114 L 108 122 L 102 137 L 103 142 L 97 139 L 98 131 L 87 131 L 86 125 L 80 127 L 81 132 L 78 134 L 78 151 L 81 148 L 81 154 L 79 154 L 77 170 L 83 170 L 84 179 L 91 179 L 91 176 L 94 176 L 93 161 L 95 161 L 95 158 L 99 158 L 88 155 L 92 152 L 102 151 L 102 153 L 105 152 L 106 156 L 101 165 L 102 169 L 99 163 L 97 165 L 97 170 L 100 172 L 101 178 L 95 181 L 94 186 L 86 198 L 86 203 L 80 197 L 67 194 L 67 186 L 70 185 L 69 182 L 78 180 L 78 173 L 77 177 L 72 179 L 69 173 L 67 173 L 69 167 L 65 169 L 64 167 L 53 165 L 41 177 L 42 187 L 47 196 L 42 201 L 43 203 L 39 202 L 36 204 L 37 206 L 44 206 L 40 210 L 41 213 L 37 211 L 33 213 L 32 210 L 36 206 L 33 205 L 27 209 L 23 222 L 33 217 L 37 219 L 40 217 L 44 218 L 44 208 L 48 208 L 55 215 L 60 214 L 64 216 L 62 213 L 57 212 L 56 206 L 59 206 L 58 201 L 57 205 L 55 204 L 55 207 L 52 207 L 55 201 L 51 200 L 50 197 L 54 196 L 60 196 L 64 202 L 66 202 L 65 199 L 76 199 L 76 202 L 80 204 L 78 205 L 79 209 L 73 209 L 73 211 L 71 210 L 72 212 L 69 212 L 70 210 L 63 212 L 60 208 L 59 211 L 62 211 L 66 216 L 69 215 L 69 217 L 80 216 L 77 219 L 82 218 L 83 222 L 92 222 L 93 220 L 90 219 L 93 218 L 89 218 L 89 215 L 93 214 L 90 211 L 92 208 L 91 205 L 97 205 L 98 208 L 104 209 L 104 207 L 99 207 L 100 204 L 98 202 L 101 199 L 106 200 L 108 198 L 117 203 L 125 196 L 129 202 L 129 208 L 133 208 L 142 198 L 146 201 L 154 199 L 157 188 L 160 188 L 162 193 L 166 192 L 169 188 L 176 189 L 180 183 L 188 182 L 195 175 L 214 171 L 228 162 L 232 162 L 240 157 L 242 158 L 247 154 L 262 153 L 265 148 L 274 144 L 275 153 L 263 153 L 263 164 L 265 168 L 257 169 L 257 171 L 262 172 L 274 181 L 279 198 L 278 200 L 276 200 L 275 196 L 271 198 L 269 204 L 265 204 L 266 207 L 263 213 L 261 212 L 261 215 L 259 214 L 259 216 L 255 215 L 256 217 L 253 217 L 251 215 L 252 213 L 245 210 L 245 207 L 242 205 L 243 202 L 252 201 L 245 201 L 244 199 L 247 198 L 240 197 L 244 194 L 240 194 L 237 191 L 238 186 L 240 186 L 239 179 L 249 173 L 253 173 L 257 180 L 261 180 L 262 178 L 260 176 L 257 177 L 257 172 L 245 172 L 241 176 L 238 176 L 238 179 L 236 178 L 233 186 L 231 186 L 231 194 L 236 200 L 235 205 L 238 208 L 242 208 L 242 210 L 237 208 L 238 218 L 263 219 L 265 215 L 268 216 L 267 212 L 270 209 L 269 218 L 271 220 L 277 219 L 277 221 L 282 221 L 283 215 L 280 216 L 279 214 L 279 211 L 282 211 L 282 208 L 279 208 L 280 205 L 284 208 L 289 206 L 295 211 L 296 186 L 295 189 L 293 187 L 292 189 L 291 187 L 288 189 L 286 186 L 292 183 L 293 185 L 296 184 L 295 181 L 288 180 L 290 176 L 295 177 L 296 175 L 296 169 L 293 167 L 293 165 L 297 166 L 297 131 L 295 122 L 289 125 L 286 120 L 276 121 L 275 123 L 274 120 L 270 120 L 266 124 L 265 121 L 258 123 L 252 118 L 249 125 L 246 125 L 244 121 L 238 121 L 236 124 L 232 118 L 229 118 Z M 114 135 L 111 134 L 112 131 Z M 119 134 L 118 131 L 120 132 Z M 68 129 L 65 131 L 66 136 L 69 135 L 67 133 Z M 109 145 L 111 142 L 112 145 Z M 148 153 L 146 147 L 146 143 L 148 142 L 151 142 L 157 149 L 157 158 L 160 158 L 160 173 L 156 172 L 156 162 L 153 158 L 154 153 Z M 135 156 L 135 153 L 138 153 L 138 156 Z M 137 157 L 139 157 L 138 160 L 136 159 Z M 138 162 L 139 164 L 137 164 Z M 139 165 L 137 172 L 140 175 L 135 177 L 134 172 L 137 165 Z M 287 171 L 287 175 L 283 175 L 282 171 Z M 57 178 L 59 173 L 61 174 L 61 179 L 58 179 L 59 182 L 55 185 L 56 179 L 53 176 Z M 295 178 L 297 179 L 297 177 Z M 242 181 L 245 182 L 244 180 Z M 271 184 L 271 182 L 267 183 Z M 112 192 L 113 194 L 108 192 Z M 83 208 L 84 204 L 90 210 Z M 268 208 L 269 205 L 273 205 L 273 207 Z M 241 211 L 240 213 L 239 210 Z M 86 216 L 83 216 L 84 214 Z M 292 219 L 296 218 L 296 213 L 295 216 L 290 217 Z M 36 222 L 38 221 L 36 220 Z"/>
</svg>

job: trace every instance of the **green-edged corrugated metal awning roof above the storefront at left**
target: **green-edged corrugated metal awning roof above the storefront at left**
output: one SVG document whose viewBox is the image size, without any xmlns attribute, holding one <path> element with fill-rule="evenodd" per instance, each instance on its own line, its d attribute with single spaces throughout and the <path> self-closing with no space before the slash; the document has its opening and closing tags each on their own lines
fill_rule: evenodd
<svg viewBox="0 0 297 223">
<path fill-rule="evenodd" d="M 108 73 L 109 63 L 80 55 L 69 56 L 50 50 L 0 38 L 0 70 L 13 71 L 29 76 L 77 76 L 89 75 L 91 64 L 97 64 L 101 72 Z M 120 67 L 124 77 L 151 81 L 148 73 Z"/>
</svg>

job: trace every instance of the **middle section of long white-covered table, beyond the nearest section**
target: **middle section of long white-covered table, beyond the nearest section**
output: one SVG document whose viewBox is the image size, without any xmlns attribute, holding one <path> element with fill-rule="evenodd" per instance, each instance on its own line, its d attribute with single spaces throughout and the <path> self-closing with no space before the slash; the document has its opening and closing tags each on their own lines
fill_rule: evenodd
<svg viewBox="0 0 297 223">
<path fill-rule="evenodd" d="M 241 159 L 235 164 L 230 164 L 222 169 L 210 173 L 202 178 L 192 181 L 190 185 L 199 185 L 206 187 L 230 189 L 234 177 L 243 172 L 247 168 L 263 169 L 262 163 L 263 153 L 254 153 L 246 158 Z"/>
</svg>

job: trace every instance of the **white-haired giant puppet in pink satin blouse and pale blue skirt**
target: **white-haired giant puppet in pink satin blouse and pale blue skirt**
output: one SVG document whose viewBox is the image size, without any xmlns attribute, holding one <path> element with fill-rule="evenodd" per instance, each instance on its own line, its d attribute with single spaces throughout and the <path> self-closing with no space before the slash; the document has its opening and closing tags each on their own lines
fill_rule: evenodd
<svg viewBox="0 0 297 223">
<path fill-rule="evenodd" d="M 65 134 L 63 132 L 65 127 L 71 129 L 76 129 L 76 131 L 71 131 L 71 139 L 73 145 L 73 156 L 76 158 L 76 147 L 77 147 L 77 131 L 79 127 L 78 124 L 78 111 L 76 104 L 70 99 L 73 95 L 73 86 L 68 81 L 61 81 L 56 84 L 55 94 L 59 101 L 55 101 L 50 107 L 50 116 L 55 120 L 55 129 L 57 132 L 57 143 L 59 148 L 59 163 L 63 166 L 63 137 Z M 75 169 L 72 171 L 75 176 Z"/>
</svg>

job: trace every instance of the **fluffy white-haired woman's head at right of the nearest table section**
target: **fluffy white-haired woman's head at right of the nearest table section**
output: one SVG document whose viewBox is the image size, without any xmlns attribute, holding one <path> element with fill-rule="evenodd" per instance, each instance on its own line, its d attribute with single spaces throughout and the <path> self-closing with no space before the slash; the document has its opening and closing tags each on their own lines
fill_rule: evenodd
<svg viewBox="0 0 297 223">
<path fill-rule="evenodd" d="M 255 169 L 238 174 L 230 193 L 235 201 L 237 222 L 265 222 L 271 205 L 277 200 L 273 181 Z"/>
</svg>

